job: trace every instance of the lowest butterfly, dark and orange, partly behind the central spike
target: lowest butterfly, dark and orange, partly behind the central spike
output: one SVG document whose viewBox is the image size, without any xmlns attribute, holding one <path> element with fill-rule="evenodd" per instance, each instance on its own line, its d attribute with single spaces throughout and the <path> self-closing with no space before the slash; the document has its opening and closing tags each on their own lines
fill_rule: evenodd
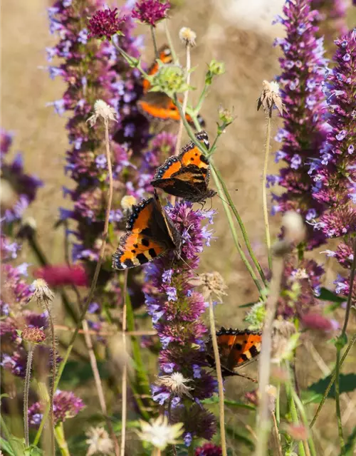
<svg viewBox="0 0 356 456">
<path fill-rule="evenodd" d="M 219 347 L 221 373 L 223 377 L 240 375 L 253 382 L 253 378 L 241 375 L 237 369 L 246 366 L 253 358 L 261 352 L 261 331 L 250 331 L 248 329 L 226 329 L 216 331 L 216 339 Z M 215 367 L 213 343 L 211 338 L 206 341 L 206 358 L 211 367 Z"/>
</svg>

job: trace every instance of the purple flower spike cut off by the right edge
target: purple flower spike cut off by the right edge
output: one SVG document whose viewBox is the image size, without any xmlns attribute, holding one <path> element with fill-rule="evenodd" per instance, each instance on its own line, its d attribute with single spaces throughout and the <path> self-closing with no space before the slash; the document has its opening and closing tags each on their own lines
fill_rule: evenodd
<svg viewBox="0 0 356 456">
<path fill-rule="evenodd" d="M 326 80 L 328 136 L 320 158 L 310 167 L 313 197 L 325 208 L 314 227 L 327 238 L 342 238 L 328 251 L 346 269 L 353 260 L 356 232 L 356 30 L 335 41 L 335 66 Z M 347 295 L 347 279 L 337 279 L 337 292 Z"/>
</svg>

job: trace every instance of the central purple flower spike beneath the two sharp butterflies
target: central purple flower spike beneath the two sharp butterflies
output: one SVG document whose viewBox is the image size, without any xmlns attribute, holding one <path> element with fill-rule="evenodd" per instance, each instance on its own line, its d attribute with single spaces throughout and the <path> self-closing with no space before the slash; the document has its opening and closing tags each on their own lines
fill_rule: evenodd
<svg viewBox="0 0 356 456">
<path fill-rule="evenodd" d="M 165 386 L 153 385 L 152 394 L 160 405 L 172 405 L 174 420 L 184 423 L 187 442 L 192 437 L 210 439 L 214 434 L 213 415 L 198 404 L 199 400 L 211 397 L 216 380 L 204 368 L 206 358 L 202 337 L 206 327 L 201 314 L 206 303 L 190 282 L 199 265 L 199 254 L 204 245 L 209 246 L 211 239 L 211 230 L 201 223 L 204 219 L 212 223 L 213 211 L 194 211 L 191 203 L 181 202 L 168 207 L 167 214 L 182 236 L 181 257 L 172 254 L 146 267 L 146 304 L 162 344 L 159 353 L 161 373 L 179 372 L 184 378 L 189 378 L 189 387 L 192 388 L 189 394 L 195 402 L 191 399 L 189 403 L 183 401 Z"/>
</svg>

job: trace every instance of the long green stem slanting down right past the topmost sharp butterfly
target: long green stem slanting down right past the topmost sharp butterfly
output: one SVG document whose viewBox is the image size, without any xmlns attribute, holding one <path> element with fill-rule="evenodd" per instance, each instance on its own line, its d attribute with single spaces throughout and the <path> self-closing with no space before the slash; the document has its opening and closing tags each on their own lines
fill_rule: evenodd
<svg viewBox="0 0 356 456">
<path fill-rule="evenodd" d="M 198 141 L 197 138 L 195 138 L 194 131 L 192 130 L 192 127 L 189 125 L 189 123 L 187 122 L 187 119 L 183 115 L 182 105 L 177 100 L 177 96 L 174 96 L 174 104 L 177 105 L 177 108 L 179 110 L 179 114 L 180 114 L 180 116 L 181 116 L 181 118 L 183 120 L 183 125 L 184 125 L 185 129 L 187 130 L 189 138 L 194 142 L 195 145 L 197 145 L 197 147 L 201 151 L 201 153 L 203 153 L 205 156 L 208 155 L 208 152 L 207 152 L 206 148 L 204 147 L 204 145 L 202 145 L 201 142 Z M 197 130 L 199 131 L 200 125 L 199 125 L 199 122 L 197 120 L 197 116 L 192 115 L 192 120 L 194 122 L 195 128 L 197 128 Z M 267 284 L 266 277 L 263 274 L 261 265 L 258 263 L 258 261 L 256 259 L 256 256 L 253 253 L 253 249 L 251 247 L 250 241 L 249 241 L 248 236 L 247 236 L 246 229 L 244 227 L 244 222 L 242 222 L 242 219 L 241 219 L 241 217 L 239 215 L 239 212 L 237 212 L 237 209 L 236 209 L 236 207 L 234 205 L 234 202 L 231 199 L 229 191 L 226 188 L 224 179 L 221 177 L 221 174 L 220 174 L 219 170 L 217 170 L 216 167 L 214 166 L 214 162 L 212 162 L 212 160 L 210 160 L 210 165 L 211 165 L 211 170 L 213 170 L 213 172 L 216 173 L 216 177 L 219 179 L 219 181 L 221 183 L 221 187 L 224 190 L 224 195 L 225 195 L 225 197 L 227 198 L 227 200 L 229 202 L 229 205 L 230 205 L 230 207 L 232 209 L 232 212 L 234 213 L 234 216 L 236 217 L 237 222 L 239 223 L 239 227 L 241 229 L 242 236 L 244 237 L 244 241 L 245 241 L 246 247 L 248 249 L 248 253 L 250 254 L 250 257 L 251 257 L 253 263 L 255 264 L 256 269 L 258 270 L 258 273 L 261 276 L 261 279 L 263 280 L 263 284 L 266 285 Z"/>
</svg>

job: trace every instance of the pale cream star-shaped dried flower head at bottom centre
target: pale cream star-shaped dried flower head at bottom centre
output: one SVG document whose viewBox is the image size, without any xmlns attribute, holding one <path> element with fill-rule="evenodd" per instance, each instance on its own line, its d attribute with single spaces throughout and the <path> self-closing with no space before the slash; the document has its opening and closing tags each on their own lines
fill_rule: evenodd
<svg viewBox="0 0 356 456">
<path fill-rule="evenodd" d="M 141 430 L 137 431 L 140 440 L 151 443 L 159 450 L 164 450 L 167 445 L 177 445 L 178 438 L 183 433 L 183 423 L 168 424 L 167 416 L 159 415 L 150 423 L 140 420 Z"/>
</svg>

